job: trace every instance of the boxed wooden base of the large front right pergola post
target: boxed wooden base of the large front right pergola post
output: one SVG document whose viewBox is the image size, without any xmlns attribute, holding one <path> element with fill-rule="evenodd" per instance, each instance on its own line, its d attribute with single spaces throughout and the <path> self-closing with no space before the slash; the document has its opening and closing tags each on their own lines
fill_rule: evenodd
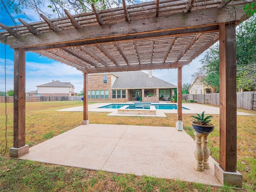
<svg viewBox="0 0 256 192">
<path fill-rule="evenodd" d="M 224 171 L 218 164 L 214 165 L 214 175 L 220 180 L 222 184 L 227 184 L 228 186 L 236 186 L 237 188 L 242 188 L 242 174 L 238 171 L 228 172 Z"/>
</svg>

